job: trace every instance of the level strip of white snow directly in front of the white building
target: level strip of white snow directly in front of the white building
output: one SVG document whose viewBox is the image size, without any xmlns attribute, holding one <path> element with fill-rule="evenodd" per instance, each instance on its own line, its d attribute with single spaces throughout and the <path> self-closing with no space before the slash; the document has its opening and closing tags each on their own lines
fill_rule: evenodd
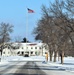
<svg viewBox="0 0 74 75">
<path fill-rule="evenodd" d="M 31 57 L 23 57 L 23 56 L 9 56 L 2 57 L 3 61 L 46 61 L 43 56 L 31 56 Z"/>
</svg>

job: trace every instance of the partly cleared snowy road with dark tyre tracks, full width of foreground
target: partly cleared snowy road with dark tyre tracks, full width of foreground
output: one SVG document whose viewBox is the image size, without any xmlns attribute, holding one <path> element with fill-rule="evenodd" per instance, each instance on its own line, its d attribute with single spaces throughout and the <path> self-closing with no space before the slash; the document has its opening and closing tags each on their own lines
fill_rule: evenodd
<svg viewBox="0 0 74 75">
<path fill-rule="evenodd" d="M 6 66 L 0 67 L 0 75 L 74 75 L 64 69 L 52 69 L 53 66 L 34 61 L 11 62 Z"/>
</svg>

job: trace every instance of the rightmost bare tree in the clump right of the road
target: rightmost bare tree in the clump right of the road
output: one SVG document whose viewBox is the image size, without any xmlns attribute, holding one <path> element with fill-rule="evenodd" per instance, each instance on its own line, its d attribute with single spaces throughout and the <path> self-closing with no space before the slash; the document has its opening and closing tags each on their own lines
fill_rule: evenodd
<svg viewBox="0 0 74 75">
<path fill-rule="evenodd" d="M 70 3 L 69 3 L 70 2 Z M 67 41 L 71 40 L 72 45 L 74 46 L 74 42 L 71 36 L 71 33 L 74 32 L 74 19 L 71 17 L 71 15 L 68 15 L 70 11 L 71 13 L 73 13 L 73 11 L 71 11 L 73 9 L 73 4 L 74 2 L 71 0 L 67 1 L 67 5 L 70 5 L 69 8 L 65 9 L 65 1 L 63 0 L 55 0 L 55 3 L 53 3 L 51 5 L 51 7 L 49 8 L 49 12 L 52 13 L 52 15 L 54 16 L 54 25 L 56 25 L 57 27 L 60 28 L 60 36 L 59 36 L 59 40 L 58 43 L 60 45 L 60 55 L 61 55 L 61 63 L 63 64 L 63 57 L 64 57 L 64 51 L 66 50 L 67 47 Z M 72 7 L 72 8 L 71 8 Z M 67 13 L 66 13 L 66 12 Z M 66 46 L 66 47 L 65 47 Z"/>
</svg>

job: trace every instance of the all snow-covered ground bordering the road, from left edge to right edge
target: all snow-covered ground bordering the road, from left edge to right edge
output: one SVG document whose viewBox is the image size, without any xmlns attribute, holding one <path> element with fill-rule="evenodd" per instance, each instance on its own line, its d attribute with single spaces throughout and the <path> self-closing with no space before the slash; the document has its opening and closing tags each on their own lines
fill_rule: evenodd
<svg viewBox="0 0 74 75">
<path fill-rule="evenodd" d="M 44 66 L 46 70 L 62 70 L 68 72 L 74 72 L 74 58 L 65 57 L 64 64 L 60 64 L 60 61 L 57 62 L 46 62 L 45 57 L 42 56 L 31 56 L 31 57 L 22 57 L 22 56 L 10 56 L 10 57 L 0 57 L 2 60 L 0 62 L 0 67 L 11 63 L 10 61 L 41 61 L 36 62 L 38 65 Z M 41 67 L 43 68 L 43 67 Z"/>
</svg>

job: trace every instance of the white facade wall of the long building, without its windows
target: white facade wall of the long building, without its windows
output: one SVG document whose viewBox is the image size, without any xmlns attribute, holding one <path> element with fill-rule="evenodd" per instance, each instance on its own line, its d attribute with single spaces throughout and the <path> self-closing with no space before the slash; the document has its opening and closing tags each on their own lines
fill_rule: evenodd
<svg viewBox="0 0 74 75">
<path fill-rule="evenodd" d="M 3 53 L 2 53 L 2 56 L 11 56 L 11 55 L 18 55 L 17 53 L 20 51 L 20 53 L 28 51 L 29 53 L 30 52 L 33 52 L 33 54 L 35 55 L 35 53 L 37 52 L 37 55 L 44 55 L 45 56 L 45 52 L 47 52 L 48 50 L 45 49 L 45 47 L 42 48 L 43 44 L 42 43 L 37 43 L 36 45 L 30 45 L 32 43 L 20 43 L 20 47 L 19 49 L 14 49 L 14 50 L 11 50 L 11 49 L 8 49 L 8 48 L 5 48 L 3 50 Z M 15 45 L 15 43 L 14 43 Z M 36 49 L 37 47 L 37 49 Z M 40 49 L 41 47 L 41 49 Z M 4 54 L 5 52 L 5 54 Z M 43 53 L 42 53 L 43 52 Z"/>
</svg>

